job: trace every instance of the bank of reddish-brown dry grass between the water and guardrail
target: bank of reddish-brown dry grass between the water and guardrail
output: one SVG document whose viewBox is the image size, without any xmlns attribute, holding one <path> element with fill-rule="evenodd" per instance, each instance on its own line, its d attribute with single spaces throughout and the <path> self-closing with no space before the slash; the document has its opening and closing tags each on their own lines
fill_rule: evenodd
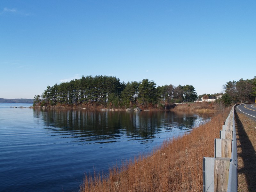
<svg viewBox="0 0 256 192">
<path fill-rule="evenodd" d="M 93 191 L 202 191 L 203 157 L 214 156 L 214 139 L 229 110 L 216 114 L 212 120 L 182 137 L 165 141 L 148 157 L 135 158 L 115 167 L 106 177 L 86 177 L 80 190 Z"/>
</svg>

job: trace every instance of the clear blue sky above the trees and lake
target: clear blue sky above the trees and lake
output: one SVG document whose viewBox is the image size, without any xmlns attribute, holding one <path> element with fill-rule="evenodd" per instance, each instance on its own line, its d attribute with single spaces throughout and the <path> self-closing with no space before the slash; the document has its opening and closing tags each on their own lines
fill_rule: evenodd
<svg viewBox="0 0 256 192">
<path fill-rule="evenodd" d="M 0 98 L 82 75 L 221 92 L 256 76 L 256 1 L 1 0 Z"/>
</svg>

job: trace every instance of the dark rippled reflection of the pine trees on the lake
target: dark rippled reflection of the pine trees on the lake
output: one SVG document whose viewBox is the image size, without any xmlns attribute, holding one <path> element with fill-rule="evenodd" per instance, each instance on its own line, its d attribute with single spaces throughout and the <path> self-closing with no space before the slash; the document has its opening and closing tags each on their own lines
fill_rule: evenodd
<svg viewBox="0 0 256 192">
<path fill-rule="evenodd" d="M 159 132 L 189 131 L 210 116 L 173 111 L 34 109 L 35 119 L 43 119 L 47 133 L 87 143 L 152 140 Z"/>
</svg>

